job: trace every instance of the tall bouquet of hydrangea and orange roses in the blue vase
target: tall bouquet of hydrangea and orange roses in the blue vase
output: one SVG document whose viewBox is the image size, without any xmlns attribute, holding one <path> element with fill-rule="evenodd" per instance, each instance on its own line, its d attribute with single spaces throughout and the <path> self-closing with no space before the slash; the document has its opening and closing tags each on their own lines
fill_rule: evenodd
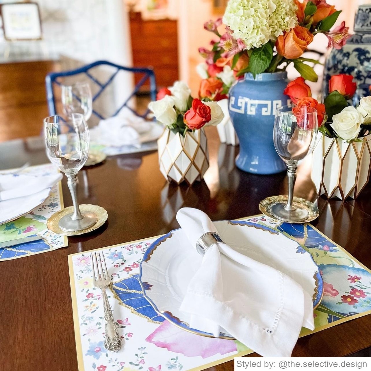
<svg viewBox="0 0 371 371">
<path fill-rule="evenodd" d="M 345 22 L 331 31 L 340 13 L 326 0 L 230 0 L 223 20 L 204 25 L 219 40 L 211 41 L 211 50 L 199 48 L 207 65 L 198 67 L 204 79 L 200 96 L 217 100 L 228 91 L 232 75 L 284 71 L 290 63 L 304 79 L 316 82 L 317 74 L 305 62 L 319 62 L 302 55 L 318 33 L 327 36 L 328 47 L 345 44 L 351 36 Z"/>
</svg>

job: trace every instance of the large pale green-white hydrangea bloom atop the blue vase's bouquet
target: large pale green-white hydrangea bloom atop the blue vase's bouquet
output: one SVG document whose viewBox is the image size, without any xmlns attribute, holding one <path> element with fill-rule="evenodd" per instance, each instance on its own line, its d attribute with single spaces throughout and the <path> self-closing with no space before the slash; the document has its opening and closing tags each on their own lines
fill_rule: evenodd
<svg viewBox="0 0 371 371">
<path fill-rule="evenodd" d="M 229 0 L 223 22 L 252 49 L 295 27 L 296 10 L 293 0 Z"/>
</svg>

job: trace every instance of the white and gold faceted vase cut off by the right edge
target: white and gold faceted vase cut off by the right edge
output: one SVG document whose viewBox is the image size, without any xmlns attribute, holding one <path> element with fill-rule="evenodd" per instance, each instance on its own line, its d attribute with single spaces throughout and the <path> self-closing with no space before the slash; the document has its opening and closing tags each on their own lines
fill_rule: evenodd
<svg viewBox="0 0 371 371">
<path fill-rule="evenodd" d="M 318 134 L 313 151 L 312 181 L 327 198 L 359 196 L 370 178 L 371 135 L 362 142 L 328 138 Z"/>
</svg>

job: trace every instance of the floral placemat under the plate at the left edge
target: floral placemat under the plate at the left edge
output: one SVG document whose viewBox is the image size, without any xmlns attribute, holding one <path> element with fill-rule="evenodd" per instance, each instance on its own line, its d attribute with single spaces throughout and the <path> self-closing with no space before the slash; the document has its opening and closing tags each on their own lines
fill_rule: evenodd
<svg viewBox="0 0 371 371">
<path fill-rule="evenodd" d="M 24 173 L 45 176 L 58 172 L 52 164 L 29 167 Z M 14 245 L 0 248 L 0 261 L 46 252 L 68 246 L 67 237 L 50 232 L 46 222 L 52 214 L 63 209 L 62 185 L 59 182 L 50 191 L 46 200 L 30 213 L 0 225 L 0 242 L 13 241 Z M 16 244 L 17 240 L 38 234 L 42 240 Z"/>
</svg>

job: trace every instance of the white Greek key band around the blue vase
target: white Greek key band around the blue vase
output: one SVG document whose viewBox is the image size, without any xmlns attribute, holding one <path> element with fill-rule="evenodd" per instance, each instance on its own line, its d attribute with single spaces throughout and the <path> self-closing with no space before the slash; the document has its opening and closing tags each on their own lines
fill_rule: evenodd
<svg viewBox="0 0 371 371">
<path fill-rule="evenodd" d="M 290 105 L 291 101 L 288 99 L 287 105 Z M 282 101 L 260 101 L 256 99 L 249 99 L 242 96 L 239 96 L 237 99 L 237 107 L 236 107 L 236 98 L 234 96 L 230 97 L 229 100 L 229 109 L 230 111 L 237 112 L 239 114 L 247 114 L 247 115 L 259 115 L 260 109 L 259 105 L 261 105 L 261 115 L 262 116 L 274 116 L 277 109 L 282 107 Z"/>
</svg>

